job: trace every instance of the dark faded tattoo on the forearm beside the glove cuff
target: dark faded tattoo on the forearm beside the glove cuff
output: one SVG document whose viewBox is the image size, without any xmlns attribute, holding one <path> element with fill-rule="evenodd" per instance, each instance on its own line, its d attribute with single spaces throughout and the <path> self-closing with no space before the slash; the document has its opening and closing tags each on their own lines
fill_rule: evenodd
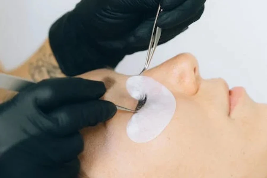
<svg viewBox="0 0 267 178">
<path fill-rule="evenodd" d="M 54 55 L 47 53 L 46 47 L 42 47 L 39 51 L 39 57 L 33 63 L 30 63 L 29 74 L 34 82 L 39 82 L 47 78 L 64 77 L 60 68 L 53 63 Z"/>
</svg>

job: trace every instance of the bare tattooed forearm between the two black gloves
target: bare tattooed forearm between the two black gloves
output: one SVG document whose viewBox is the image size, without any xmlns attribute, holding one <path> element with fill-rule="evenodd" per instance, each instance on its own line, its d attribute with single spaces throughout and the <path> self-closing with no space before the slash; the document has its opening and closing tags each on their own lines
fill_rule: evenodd
<svg viewBox="0 0 267 178">
<path fill-rule="evenodd" d="M 48 39 L 23 65 L 8 74 L 39 82 L 47 78 L 65 77 L 50 48 Z"/>
</svg>

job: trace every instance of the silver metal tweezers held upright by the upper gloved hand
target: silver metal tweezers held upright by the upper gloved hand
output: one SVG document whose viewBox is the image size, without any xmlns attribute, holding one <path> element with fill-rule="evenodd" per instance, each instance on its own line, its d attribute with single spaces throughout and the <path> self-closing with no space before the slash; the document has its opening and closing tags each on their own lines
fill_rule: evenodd
<svg viewBox="0 0 267 178">
<path fill-rule="evenodd" d="M 160 40 L 160 36 L 161 36 L 161 28 L 157 27 L 157 20 L 158 20 L 158 15 L 161 11 L 161 6 L 158 6 L 158 11 L 156 14 L 156 18 L 155 18 L 155 22 L 152 28 L 152 34 L 151 34 L 151 38 L 150 38 L 150 43 L 149 43 L 149 47 L 148 47 L 148 52 L 147 52 L 147 59 L 146 59 L 146 63 L 144 66 L 144 69 L 142 70 L 142 72 L 139 75 L 142 75 L 144 73 L 145 70 L 148 69 L 148 66 L 151 62 L 151 59 L 154 55 L 154 52 L 156 50 L 156 47 L 158 46 L 158 42 Z"/>
</svg>

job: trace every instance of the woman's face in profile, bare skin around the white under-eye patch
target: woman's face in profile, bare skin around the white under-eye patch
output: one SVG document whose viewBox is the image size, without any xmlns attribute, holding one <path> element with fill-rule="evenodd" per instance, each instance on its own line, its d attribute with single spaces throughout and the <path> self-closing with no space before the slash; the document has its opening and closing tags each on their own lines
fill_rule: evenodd
<svg viewBox="0 0 267 178">
<path fill-rule="evenodd" d="M 133 113 L 118 111 L 108 122 L 81 131 L 81 171 L 90 178 L 266 177 L 267 107 L 243 88 L 229 92 L 222 79 L 204 80 L 190 54 L 144 73 L 171 91 L 176 110 L 155 139 L 133 142 L 126 133 Z M 104 100 L 135 109 L 126 89 L 130 76 L 100 69 L 80 77 L 103 81 Z M 149 93 L 147 93 L 149 96 Z M 153 122 L 153 117 L 150 118 Z M 162 118 L 164 119 L 164 118 Z"/>
</svg>

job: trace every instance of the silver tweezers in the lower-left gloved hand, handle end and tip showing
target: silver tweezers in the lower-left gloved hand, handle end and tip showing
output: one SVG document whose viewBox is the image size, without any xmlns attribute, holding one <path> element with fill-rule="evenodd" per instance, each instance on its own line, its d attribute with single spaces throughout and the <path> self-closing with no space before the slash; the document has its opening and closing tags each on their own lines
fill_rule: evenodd
<svg viewBox="0 0 267 178">
<path fill-rule="evenodd" d="M 6 90 L 20 92 L 23 88 L 26 88 L 26 87 L 28 87 L 30 85 L 34 85 L 34 84 L 36 84 L 36 83 L 33 81 L 30 81 L 30 80 L 26 80 L 26 79 L 23 79 L 20 77 L 15 77 L 12 75 L 0 73 L 0 88 L 4 88 Z M 132 109 L 128 109 L 128 108 L 117 106 L 117 105 L 116 105 L 116 107 L 118 110 L 136 113 L 136 111 L 134 111 Z"/>
</svg>

